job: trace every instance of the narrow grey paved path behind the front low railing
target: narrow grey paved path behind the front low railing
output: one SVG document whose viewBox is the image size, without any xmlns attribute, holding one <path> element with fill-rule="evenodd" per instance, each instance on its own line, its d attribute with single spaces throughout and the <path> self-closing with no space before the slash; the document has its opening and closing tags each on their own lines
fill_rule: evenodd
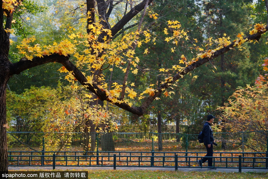
<svg viewBox="0 0 268 179">
<path fill-rule="evenodd" d="M 23 167 L 8 167 L 8 170 L 23 170 L 27 171 L 29 169 L 38 169 L 38 170 L 52 170 L 52 167 L 39 167 L 39 166 L 23 166 Z M 56 166 L 56 169 L 61 170 L 113 170 L 113 167 L 59 167 Z M 175 170 L 175 168 L 164 168 L 164 167 L 116 167 L 116 170 Z M 180 171 L 216 171 L 216 172 L 238 172 L 238 169 L 226 169 L 226 168 L 217 168 L 217 170 L 208 170 L 207 168 L 180 168 L 178 167 L 178 170 Z M 242 169 L 242 172 L 268 172 L 268 169 Z"/>
</svg>

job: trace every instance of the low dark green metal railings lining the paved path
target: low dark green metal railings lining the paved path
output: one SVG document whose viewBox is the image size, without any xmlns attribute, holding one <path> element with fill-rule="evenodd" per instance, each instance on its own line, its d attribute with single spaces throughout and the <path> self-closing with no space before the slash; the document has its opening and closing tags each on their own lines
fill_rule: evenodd
<svg viewBox="0 0 268 179">
<path fill-rule="evenodd" d="M 111 166 L 116 167 L 198 167 L 205 152 L 17 152 L 9 151 L 9 166 Z M 268 152 L 214 152 L 213 167 L 268 169 Z M 201 166 L 201 168 L 209 168 Z"/>
</svg>

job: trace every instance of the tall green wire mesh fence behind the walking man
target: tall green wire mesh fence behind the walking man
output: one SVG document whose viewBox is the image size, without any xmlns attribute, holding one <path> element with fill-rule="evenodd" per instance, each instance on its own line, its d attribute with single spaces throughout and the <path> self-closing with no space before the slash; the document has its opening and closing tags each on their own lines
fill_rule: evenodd
<svg viewBox="0 0 268 179">
<path fill-rule="evenodd" d="M 268 131 L 214 133 L 214 151 L 265 152 Z M 206 151 L 198 134 L 8 132 L 8 151 Z"/>
</svg>

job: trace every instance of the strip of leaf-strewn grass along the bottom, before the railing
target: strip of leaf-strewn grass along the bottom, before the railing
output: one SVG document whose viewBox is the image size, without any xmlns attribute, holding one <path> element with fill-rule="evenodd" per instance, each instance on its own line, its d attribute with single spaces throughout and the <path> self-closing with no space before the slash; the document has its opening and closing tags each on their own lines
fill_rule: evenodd
<svg viewBox="0 0 268 179">
<path fill-rule="evenodd" d="M 10 170 L 14 171 L 14 170 Z M 29 170 L 29 171 L 44 171 L 44 170 Z M 51 171 L 51 170 L 49 170 Z M 73 170 L 53 170 L 53 171 L 73 171 Z M 76 170 L 78 171 L 78 170 Z M 81 170 L 79 170 L 81 171 Z M 121 178 L 268 178 L 268 173 L 225 173 L 215 171 L 162 171 L 162 170 L 83 170 L 88 171 L 88 178 L 91 179 L 121 179 Z"/>
</svg>

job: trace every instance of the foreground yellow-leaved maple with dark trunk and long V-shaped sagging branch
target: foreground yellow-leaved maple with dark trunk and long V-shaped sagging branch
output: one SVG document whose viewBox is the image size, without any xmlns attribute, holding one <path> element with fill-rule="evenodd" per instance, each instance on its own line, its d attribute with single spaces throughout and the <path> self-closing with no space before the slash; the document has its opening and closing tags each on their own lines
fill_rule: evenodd
<svg viewBox="0 0 268 179">
<path fill-rule="evenodd" d="M 214 46 L 210 49 L 195 48 L 196 56 L 187 58 L 181 55 L 178 61 L 182 65 L 173 65 L 172 68 L 161 68 L 159 72 L 165 74 L 163 81 L 158 83 L 157 87 L 148 86 L 140 94 L 131 87 L 127 73 L 137 74 L 143 71 L 147 74 L 149 69 L 142 65 L 140 59 L 135 56 L 135 48 L 139 48 L 145 43 L 157 43 L 157 37 L 152 37 L 149 30 L 137 30 L 125 34 L 118 41 L 113 41 L 113 37 L 123 29 L 123 27 L 131 22 L 139 12 L 147 8 L 152 0 L 144 0 L 141 2 L 132 1 L 128 4 L 129 8 L 125 15 L 120 19 L 113 19 L 111 12 L 120 2 L 114 1 L 90 1 L 88 0 L 86 12 L 84 13 L 84 21 L 87 24 L 86 32 L 70 33 L 69 39 L 61 42 L 53 42 L 40 46 L 35 43 L 36 38 L 25 38 L 20 45 L 17 46 L 19 53 L 24 54 L 24 58 L 17 59 L 17 62 L 9 60 L 10 41 L 9 36 L 13 32 L 12 23 L 13 14 L 22 6 L 22 1 L 2 0 L 0 2 L 0 170 L 7 171 L 8 153 L 6 140 L 6 86 L 10 76 L 19 74 L 28 68 L 38 65 L 56 62 L 62 64 L 61 72 L 66 73 L 65 79 L 75 86 L 77 81 L 86 89 L 95 94 L 95 104 L 99 101 L 108 101 L 118 107 L 127 110 L 136 115 L 143 115 L 153 100 L 158 99 L 161 93 L 171 91 L 169 87 L 173 87 L 174 83 L 182 78 L 185 74 L 191 72 L 195 68 L 205 64 L 215 57 L 224 54 L 233 49 L 243 49 L 243 43 L 259 40 L 261 35 L 266 32 L 265 24 L 256 24 L 254 29 L 250 30 L 248 36 L 243 37 L 241 34 L 234 40 L 228 37 L 214 39 Z M 268 1 L 265 2 L 268 8 Z M 155 16 L 157 16 L 155 14 Z M 133 26 L 130 26 L 133 27 Z M 126 27 L 125 27 L 126 28 Z M 178 21 L 167 21 L 164 33 L 169 35 L 165 38 L 166 42 L 181 45 L 182 41 L 189 40 L 187 31 L 181 28 Z M 145 36 L 141 39 L 140 36 Z M 212 40 L 212 39 L 211 39 Z M 78 47 L 84 46 L 84 50 Z M 190 47 L 188 47 L 190 48 Z M 174 50 L 174 49 L 173 49 Z M 144 50 L 144 54 L 149 53 L 148 49 Z M 103 71 L 110 70 L 111 65 L 122 70 L 122 76 L 125 76 L 121 84 L 115 83 L 108 90 L 108 84 L 105 81 Z M 135 83 L 134 83 L 135 85 Z M 141 105 L 136 107 L 133 100 L 140 100 Z M 92 104 L 93 105 L 93 104 Z"/>
</svg>

